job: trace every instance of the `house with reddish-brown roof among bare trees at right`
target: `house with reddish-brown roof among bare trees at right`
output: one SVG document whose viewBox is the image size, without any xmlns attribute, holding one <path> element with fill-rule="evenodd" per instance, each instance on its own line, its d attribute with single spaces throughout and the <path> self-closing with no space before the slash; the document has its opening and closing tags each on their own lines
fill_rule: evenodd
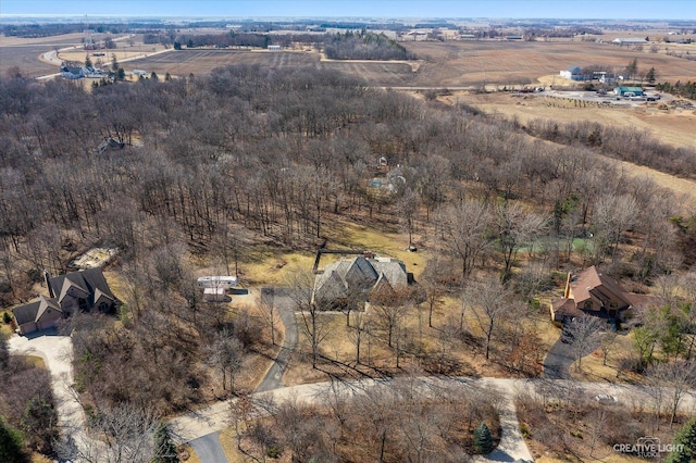
<svg viewBox="0 0 696 463">
<path fill-rule="evenodd" d="M 551 302 L 554 321 L 563 322 L 581 315 L 622 320 L 631 308 L 643 309 L 658 302 L 656 298 L 626 292 L 616 280 L 594 265 L 582 272 L 568 273 L 563 297 Z"/>
</svg>

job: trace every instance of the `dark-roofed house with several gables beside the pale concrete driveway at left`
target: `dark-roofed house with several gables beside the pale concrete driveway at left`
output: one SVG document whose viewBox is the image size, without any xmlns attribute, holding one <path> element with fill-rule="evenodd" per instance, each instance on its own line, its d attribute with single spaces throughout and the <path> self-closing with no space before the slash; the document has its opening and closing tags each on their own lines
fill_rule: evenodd
<svg viewBox="0 0 696 463">
<path fill-rule="evenodd" d="M 45 279 L 50 297 L 39 296 L 38 301 L 12 309 L 23 335 L 51 328 L 76 310 L 109 312 L 116 302 L 101 268 L 72 272 L 53 278 L 46 273 Z"/>
</svg>

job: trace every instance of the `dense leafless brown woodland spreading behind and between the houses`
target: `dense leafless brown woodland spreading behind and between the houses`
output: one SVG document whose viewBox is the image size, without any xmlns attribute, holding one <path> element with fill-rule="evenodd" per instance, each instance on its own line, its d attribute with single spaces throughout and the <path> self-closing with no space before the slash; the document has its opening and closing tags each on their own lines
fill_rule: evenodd
<svg viewBox="0 0 696 463">
<path fill-rule="evenodd" d="M 415 355 L 425 371 L 460 373 L 438 370 L 457 345 L 523 375 L 538 374 L 538 346 L 529 348 L 537 345 L 533 334 L 513 320 L 498 323 L 500 306 L 523 313 L 508 309 L 534 305 L 538 291 L 559 284 L 556 271 L 593 263 L 639 290 L 667 293 L 678 286 L 670 278 L 695 262 L 696 220 L 679 216 L 679 199 L 604 160 L 693 175 L 693 151 L 644 136 L 626 142 L 593 124 L 522 127 L 336 72 L 257 66 L 91 91 L 13 72 L 0 79 L 0 110 L 2 303 L 30 298 L 42 270 L 66 271 L 79 250 L 121 250 L 127 301 L 117 316 L 69 325 L 77 387 L 97 411 L 119 403 L 184 410 L 219 380 L 210 368 L 226 388 L 240 356 L 264 349 L 260 321 L 244 312 L 231 320 L 200 301 L 191 255 L 229 267 L 254 245 L 314 250 L 343 221 L 413 234 L 442 258 L 424 274 L 425 297 L 396 305 L 432 309 L 438 295 L 453 292 L 462 304 L 484 305 L 484 337 L 471 339 L 451 321 L 437 352 L 419 356 L 398 328 L 398 308 L 385 303 L 375 333 L 396 366 Z M 107 138 L 124 148 L 98 149 Z M 368 186 L 373 177 L 398 180 L 382 191 Z M 573 250 L 573 239 L 588 234 L 594 246 Z M 674 340 L 666 326 L 685 321 L 685 336 L 696 324 L 670 311 L 647 325 L 636 370 L 663 359 L 652 355 L 662 341 L 678 342 L 672 359 L 691 356 L 688 339 Z M 315 362 L 321 349 L 312 347 Z"/>
</svg>

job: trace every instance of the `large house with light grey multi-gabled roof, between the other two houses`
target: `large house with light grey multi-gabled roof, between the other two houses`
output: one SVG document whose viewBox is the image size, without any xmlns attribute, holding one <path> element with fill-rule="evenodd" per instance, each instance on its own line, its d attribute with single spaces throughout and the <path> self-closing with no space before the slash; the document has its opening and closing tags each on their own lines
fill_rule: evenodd
<svg viewBox="0 0 696 463">
<path fill-rule="evenodd" d="M 406 288 L 411 279 L 403 262 L 397 259 L 341 259 L 316 276 L 313 300 L 322 308 L 344 305 L 353 298 L 364 302 L 371 295 Z"/>
</svg>

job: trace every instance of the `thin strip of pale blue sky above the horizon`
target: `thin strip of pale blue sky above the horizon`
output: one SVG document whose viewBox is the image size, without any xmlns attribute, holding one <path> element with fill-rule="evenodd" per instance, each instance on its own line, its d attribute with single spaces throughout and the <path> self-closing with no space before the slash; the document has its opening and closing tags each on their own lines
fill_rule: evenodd
<svg viewBox="0 0 696 463">
<path fill-rule="evenodd" d="M 0 0 L 5 15 L 696 20 L 696 0 Z"/>
</svg>

